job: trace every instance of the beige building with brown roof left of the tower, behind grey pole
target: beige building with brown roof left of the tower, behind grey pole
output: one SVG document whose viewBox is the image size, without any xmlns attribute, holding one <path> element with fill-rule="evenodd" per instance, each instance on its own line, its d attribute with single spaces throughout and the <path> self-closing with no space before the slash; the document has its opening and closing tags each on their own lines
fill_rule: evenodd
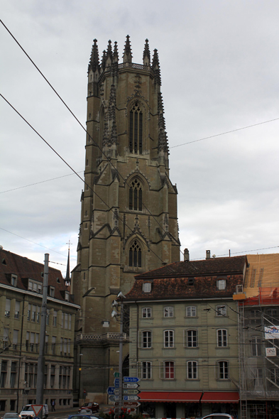
<svg viewBox="0 0 279 419">
<path fill-rule="evenodd" d="M 0 249 L 0 411 L 35 403 L 44 266 Z M 72 406 L 74 304 L 61 272 L 49 268 L 44 403 Z"/>
</svg>

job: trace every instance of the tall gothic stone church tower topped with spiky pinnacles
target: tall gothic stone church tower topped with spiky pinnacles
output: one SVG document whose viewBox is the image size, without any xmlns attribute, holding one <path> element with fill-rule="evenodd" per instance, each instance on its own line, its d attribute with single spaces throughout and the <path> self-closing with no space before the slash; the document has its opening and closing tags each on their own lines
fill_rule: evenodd
<svg viewBox="0 0 279 419">
<path fill-rule="evenodd" d="M 119 290 L 125 295 L 131 289 L 136 274 L 180 260 L 177 189 L 169 178 L 160 85 L 158 53 L 154 50 L 151 63 L 148 40 L 143 64 L 132 62 L 129 36 L 122 63 L 111 40 L 99 63 L 94 40 L 80 235 L 72 272 L 72 294 L 81 306 L 76 365 L 82 370 L 74 387 L 80 397 L 86 390 L 87 398 L 103 403 L 118 370 L 119 323 L 111 318 L 111 302 Z"/>
</svg>

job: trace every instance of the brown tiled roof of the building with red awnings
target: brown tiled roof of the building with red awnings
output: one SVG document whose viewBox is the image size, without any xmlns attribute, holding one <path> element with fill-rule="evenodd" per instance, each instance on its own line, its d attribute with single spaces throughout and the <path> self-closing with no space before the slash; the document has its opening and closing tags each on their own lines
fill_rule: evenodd
<svg viewBox="0 0 279 419">
<path fill-rule="evenodd" d="M 126 301 L 232 298 L 236 285 L 243 284 L 245 264 L 246 256 L 172 263 L 136 276 Z M 221 278 L 226 279 L 225 290 L 217 290 L 217 279 Z M 143 293 L 143 283 L 148 281 L 151 282 L 151 293 Z"/>
</svg>

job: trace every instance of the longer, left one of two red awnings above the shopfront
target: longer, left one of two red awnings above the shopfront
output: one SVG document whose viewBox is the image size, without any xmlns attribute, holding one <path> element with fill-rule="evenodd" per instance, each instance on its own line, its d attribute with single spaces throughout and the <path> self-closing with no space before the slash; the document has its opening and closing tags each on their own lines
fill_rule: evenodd
<svg viewBox="0 0 279 419">
<path fill-rule="evenodd" d="M 202 391 L 141 391 L 138 396 L 141 401 L 199 403 Z"/>
</svg>

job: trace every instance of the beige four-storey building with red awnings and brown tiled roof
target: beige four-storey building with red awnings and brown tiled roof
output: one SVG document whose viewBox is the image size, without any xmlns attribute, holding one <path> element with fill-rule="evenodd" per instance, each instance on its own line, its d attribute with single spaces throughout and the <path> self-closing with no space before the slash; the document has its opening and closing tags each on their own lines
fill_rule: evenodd
<svg viewBox="0 0 279 419">
<path fill-rule="evenodd" d="M 152 418 L 239 410 L 237 301 L 246 256 L 170 263 L 136 276 L 130 308 L 130 376 Z M 242 289 L 242 288 L 241 288 Z"/>
</svg>

